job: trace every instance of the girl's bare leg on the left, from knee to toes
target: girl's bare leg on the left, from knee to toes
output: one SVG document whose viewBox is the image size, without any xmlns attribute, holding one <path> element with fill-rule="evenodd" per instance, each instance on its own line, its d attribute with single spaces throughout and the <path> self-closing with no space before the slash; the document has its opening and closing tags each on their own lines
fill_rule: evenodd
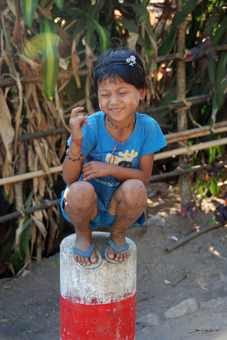
<svg viewBox="0 0 227 340">
<path fill-rule="evenodd" d="M 75 248 L 87 251 L 92 243 L 91 228 L 92 221 L 98 213 L 97 195 L 94 187 L 88 182 L 75 182 L 66 189 L 64 194 L 65 212 L 73 223 L 76 232 Z M 74 254 L 74 259 L 83 266 L 89 266 L 97 262 L 97 256 L 93 249 L 90 260 Z"/>
</svg>

